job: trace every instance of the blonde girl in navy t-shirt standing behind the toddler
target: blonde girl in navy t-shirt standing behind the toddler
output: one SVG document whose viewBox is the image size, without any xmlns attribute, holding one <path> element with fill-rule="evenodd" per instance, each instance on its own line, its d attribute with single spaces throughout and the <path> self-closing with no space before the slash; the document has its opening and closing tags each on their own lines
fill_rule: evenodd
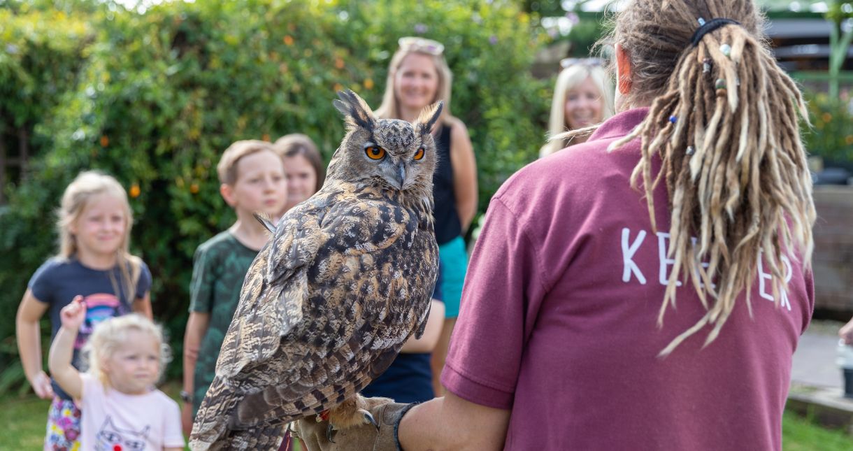
<svg viewBox="0 0 853 451">
<path fill-rule="evenodd" d="M 132 311 L 151 318 L 151 273 L 128 252 L 133 217 L 125 189 L 112 176 L 81 173 L 62 195 L 58 232 L 60 252 L 36 271 L 16 317 L 20 359 L 36 394 L 52 399 L 45 449 L 78 443 L 80 413 L 73 398 L 52 385 L 42 370 L 38 322 L 49 313 L 51 336 L 60 328 L 60 311 L 83 296 L 89 314 L 74 344 L 73 364 L 84 369 L 79 350 L 100 321 Z"/>
</svg>

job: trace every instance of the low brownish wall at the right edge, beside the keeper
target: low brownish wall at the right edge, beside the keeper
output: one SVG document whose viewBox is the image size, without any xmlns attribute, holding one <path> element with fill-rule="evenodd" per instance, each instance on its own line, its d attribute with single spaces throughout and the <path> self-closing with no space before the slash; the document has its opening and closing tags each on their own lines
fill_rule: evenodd
<svg viewBox="0 0 853 451">
<path fill-rule="evenodd" d="M 816 186 L 815 309 L 853 312 L 853 186 Z"/>
</svg>

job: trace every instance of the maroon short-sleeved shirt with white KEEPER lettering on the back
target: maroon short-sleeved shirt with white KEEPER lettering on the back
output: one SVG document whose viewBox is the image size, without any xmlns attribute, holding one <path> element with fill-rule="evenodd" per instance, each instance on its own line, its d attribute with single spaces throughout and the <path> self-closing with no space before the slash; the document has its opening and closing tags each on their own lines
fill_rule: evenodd
<svg viewBox="0 0 853 451">
<path fill-rule="evenodd" d="M 781 448 L 812 277 L 786 255 L 787 286 L 775 296 L 757 261 L 751 315 L 741 295 L 716 341 L 703 349 L 705 327 L 659 357 L 705 309 L 682 280 L 677 309 L 657 325 L 673 264 L 666 184 L 654 192 L 655 232 L 646 199 L 630 188 L 639 142 L 606 151 L 646 114 L 614 116 L 589 142 L 523 168 L 491 200 L 442 383 L 511 410 L 506 449 Z"/>
</svg>

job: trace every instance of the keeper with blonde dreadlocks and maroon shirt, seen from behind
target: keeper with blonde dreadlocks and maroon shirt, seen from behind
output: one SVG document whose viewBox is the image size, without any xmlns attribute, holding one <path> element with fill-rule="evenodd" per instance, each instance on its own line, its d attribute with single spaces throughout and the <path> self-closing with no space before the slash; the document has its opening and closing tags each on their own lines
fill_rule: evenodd
<svg viewBox="0 0 853 451">
<path fill-rule="evenodd" d="M 368 400 L 378 436 L 338 449 L 780 449 L 815 208 L 763 29 L 754 0 L 624 3 L 618 113 L 491 199 L 447 395 Z"/>
</svg>

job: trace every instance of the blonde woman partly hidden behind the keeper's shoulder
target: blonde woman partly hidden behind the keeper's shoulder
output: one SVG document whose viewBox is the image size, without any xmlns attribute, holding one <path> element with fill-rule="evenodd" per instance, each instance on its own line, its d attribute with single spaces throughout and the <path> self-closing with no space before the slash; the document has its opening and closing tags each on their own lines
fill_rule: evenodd
<svg viewBox="0 0 853 451">
<path fill-rule="evenodd" d="M 583 129 L 610 119 L 613 115 L 613 86 L 602 61 L 598 58 L 566 58 L 560 61 L 560 67 L 562 71 L 557 76 L 554 100 L 551 101 L 548 136 Z M 551 140 L 539 149 L 539 158 L 580 144 L 587 137 Z"/>
</svg>

